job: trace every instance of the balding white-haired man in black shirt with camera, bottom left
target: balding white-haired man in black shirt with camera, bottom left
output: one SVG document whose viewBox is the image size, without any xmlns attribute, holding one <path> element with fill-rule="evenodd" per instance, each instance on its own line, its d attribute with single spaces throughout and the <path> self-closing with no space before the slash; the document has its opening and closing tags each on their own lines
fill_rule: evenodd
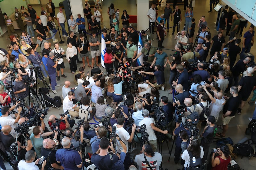
<svg viewBox="0 0 256 170">
<path fill-rule="evenodd" d="M 44 156 L 44 160 L 47 160 L 46 162 L 46 168 L 52 170 L 59 170 L 64 169 L 63 166 L 61 166 L 60 163 L 56 161 L 56 152 L 54 148 L 56 147 L 55 142 L 52 139 L 46 138 L 43 141 L 43 148 L 41 149 L 41 154 Z"/>
</svg>

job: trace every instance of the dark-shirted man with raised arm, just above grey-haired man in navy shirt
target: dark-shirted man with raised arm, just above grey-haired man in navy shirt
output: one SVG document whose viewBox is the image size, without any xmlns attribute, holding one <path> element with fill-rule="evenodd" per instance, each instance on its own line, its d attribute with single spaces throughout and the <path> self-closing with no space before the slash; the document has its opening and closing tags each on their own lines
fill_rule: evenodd
<svg viewBox="0 0 256 170">
<path fill-rule="evenodd" d="M 80 139 L 78 141 L 76 141 L 75 139 L 75 134 L 78 131 L 78 127 L 77 129 L 73 130 L 72 129 L 67 129 L 65 130 L 65 137 L 68 137 L 70 139 L 71 142 L 71 149 L 79 149 L 80 145 L 82 145 L 83 141 L 84 141 L 84 127 L 83 125 L 80 125 L 79 127 L 79 131 L 80 131 Z"/>
</svg>

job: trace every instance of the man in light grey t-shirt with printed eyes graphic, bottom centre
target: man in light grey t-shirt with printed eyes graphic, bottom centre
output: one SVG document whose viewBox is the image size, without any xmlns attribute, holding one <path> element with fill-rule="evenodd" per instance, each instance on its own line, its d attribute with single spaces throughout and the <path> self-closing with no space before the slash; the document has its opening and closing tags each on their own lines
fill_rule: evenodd
<svg viewBox="0 0 256 170">
<path fill-rule="evenodd" d="M 138 170 L 144 168 L 159 170 L 162 160 L 162 155 L 159 152 L 154 152 L 151 145 L 144 144 L 142 146 L 142 153 L 135 156 L 134 162 L 138 165 Z M 149 164 L 149 162 L 153 162 L 153 165 Z M 147 163 L 147 166 L 145 163 Z"/>
</svg>

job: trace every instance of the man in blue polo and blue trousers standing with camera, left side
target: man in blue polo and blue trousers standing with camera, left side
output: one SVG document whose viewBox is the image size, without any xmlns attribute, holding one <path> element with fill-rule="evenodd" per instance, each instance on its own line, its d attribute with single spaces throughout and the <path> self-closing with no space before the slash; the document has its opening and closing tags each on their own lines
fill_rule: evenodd
<svg viewBox="0 0 256 170">
<path fill-rule="evenodd" d="M 47 68 L 48 68 L 48 75 L 51 79 L 52 91 L 56 94 L 57 91 L 55 90 L 55 86 L 57 86 L 57 87 L 60 86 L 60 85 L 57 85 L 57 82 L 56 82 L 56 68 L 59 63 L 59 60 L 57 59 L 54 62 L 53 58 L 54 58 L 54 54 L 52 52 L 50 52 L 49 58 L 47 58 Z"/>
</svg>

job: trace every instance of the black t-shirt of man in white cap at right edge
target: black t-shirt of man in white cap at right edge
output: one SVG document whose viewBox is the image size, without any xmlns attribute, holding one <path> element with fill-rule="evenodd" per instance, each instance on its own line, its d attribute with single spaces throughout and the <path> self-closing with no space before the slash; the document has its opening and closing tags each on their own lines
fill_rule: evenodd
<svg viewBox="0 0 256 170">
<path fill-rule="evenodd" d="M 252 76 L 244 76 L 240 79 L 238 85 L 242 86 L 241 90 L 239 91 L 242 98 L 250 96 L 253 86 L 256 85 L 255 78 L 256 77 Z"/>
</svg>

